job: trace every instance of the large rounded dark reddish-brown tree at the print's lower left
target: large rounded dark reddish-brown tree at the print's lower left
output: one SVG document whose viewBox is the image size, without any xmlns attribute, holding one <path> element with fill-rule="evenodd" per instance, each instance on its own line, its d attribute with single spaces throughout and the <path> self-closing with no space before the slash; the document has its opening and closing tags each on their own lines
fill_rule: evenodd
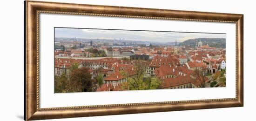
<svg viewBox="0 0 256 121">
<path fill-rule="evenodd" d="M 91 92 L 93 82 L 88 68 L 81 67 L 72 71 L 68 85 L 68 92 Z"/>
</svg>

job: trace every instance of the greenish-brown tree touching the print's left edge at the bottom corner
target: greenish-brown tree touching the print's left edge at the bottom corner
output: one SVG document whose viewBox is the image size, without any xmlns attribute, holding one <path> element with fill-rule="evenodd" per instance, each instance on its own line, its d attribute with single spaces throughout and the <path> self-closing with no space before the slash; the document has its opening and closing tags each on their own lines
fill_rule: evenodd
<svg viewBox="0 0 256 121">
<path fill-rule="evenodd" d="M 65 93 L 67 75 L 63 72 L 60 76 L 54 76 L 54 93 Z"/>
</svg>

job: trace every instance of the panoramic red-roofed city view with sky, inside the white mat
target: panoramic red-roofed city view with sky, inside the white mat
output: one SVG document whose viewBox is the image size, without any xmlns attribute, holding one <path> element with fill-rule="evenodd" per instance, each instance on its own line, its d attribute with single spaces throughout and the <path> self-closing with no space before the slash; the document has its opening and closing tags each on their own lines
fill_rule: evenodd
<svg viewBox="0 0 256 121">
<path fill-rule="evenodd" d="M 226 34 L 54 28 L 54 93 L 226 87 Z"/>
</svg>

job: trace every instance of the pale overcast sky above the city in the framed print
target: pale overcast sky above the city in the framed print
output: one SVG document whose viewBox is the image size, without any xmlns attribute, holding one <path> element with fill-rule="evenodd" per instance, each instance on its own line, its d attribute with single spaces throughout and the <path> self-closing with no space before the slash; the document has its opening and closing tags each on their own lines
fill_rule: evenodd
<svg viewBox="0 0 256 121">
<path fill-rule="evenodd" d="M 226 34 L 204 33 L 180 33 L 180 32 L 152 32 L 130 30 L 103 30 L 80 28 L 55 28 L 55 37 L 86 38 L 86 39 L 117 39 L 158 41 L 158 42 L 182 42 L 195 38 L 226 38 Z"/>
</svg>

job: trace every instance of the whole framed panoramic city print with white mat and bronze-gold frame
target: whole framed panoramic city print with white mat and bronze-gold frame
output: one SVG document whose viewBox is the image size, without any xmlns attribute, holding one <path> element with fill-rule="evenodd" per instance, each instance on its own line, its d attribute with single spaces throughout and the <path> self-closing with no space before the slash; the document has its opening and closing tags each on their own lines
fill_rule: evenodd
<svg viewBox="0 0 256 121">
<path fill-rule="evenodd" d="M 243 14 L 24 1 L 25 114 L 243 106 Z"/>
</svg>

